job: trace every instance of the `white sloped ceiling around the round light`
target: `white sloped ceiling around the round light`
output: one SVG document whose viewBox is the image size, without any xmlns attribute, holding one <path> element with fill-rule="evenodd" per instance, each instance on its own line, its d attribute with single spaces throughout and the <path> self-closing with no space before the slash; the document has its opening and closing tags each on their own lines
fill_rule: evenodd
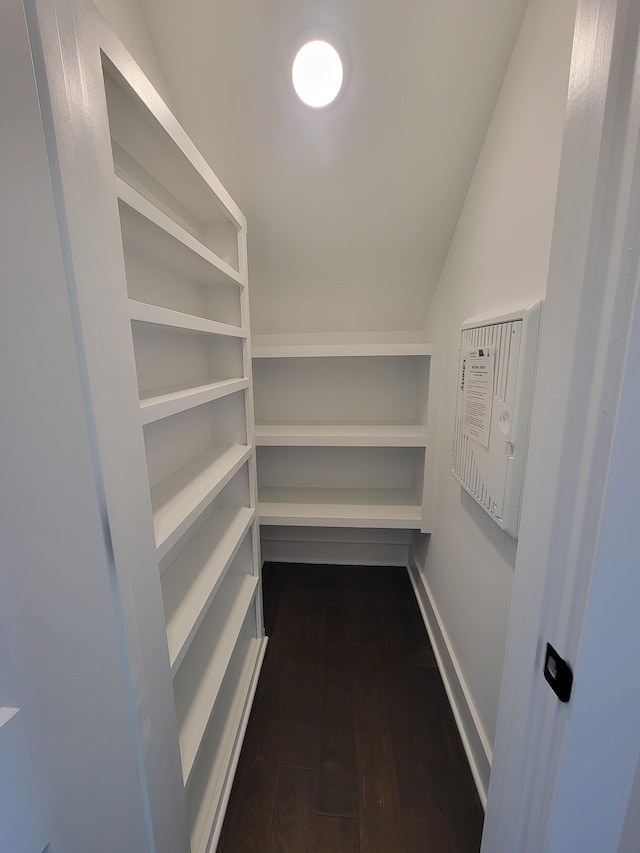
<svg viewBox="0 0 640 853">
<path fill-rule="evenodd" d="M 249 219 L 254 331 L 420 328 L 526 0 L 140 2 L 178 118 Z M 309 37 L 348 63 L 324 110 L 289 82 Z"/>
</svg>

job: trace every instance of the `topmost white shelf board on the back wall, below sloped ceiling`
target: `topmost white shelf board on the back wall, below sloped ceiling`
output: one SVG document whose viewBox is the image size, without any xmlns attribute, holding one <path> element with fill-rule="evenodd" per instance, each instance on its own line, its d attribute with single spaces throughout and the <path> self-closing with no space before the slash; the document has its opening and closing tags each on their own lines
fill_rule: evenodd
<svg viewBox="0 0 640 853">
<path fill-rule="evenodd" d="M 431 355 L 422 332 L 313 332 L 254 335 L 254 358 Z"/>
</svg>

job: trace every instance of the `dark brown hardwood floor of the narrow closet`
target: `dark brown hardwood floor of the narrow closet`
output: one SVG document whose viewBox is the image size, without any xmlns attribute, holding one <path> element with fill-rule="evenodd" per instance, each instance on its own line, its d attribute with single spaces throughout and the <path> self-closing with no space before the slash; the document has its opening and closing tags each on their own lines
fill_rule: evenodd
<svg viewBox="0 0 640 853">
<path fill-rule="evenodd" d="M 219 853 L 477 853 L 482 808 L 406 572 L 267 564 L 264 602 Z"/>
</svg>

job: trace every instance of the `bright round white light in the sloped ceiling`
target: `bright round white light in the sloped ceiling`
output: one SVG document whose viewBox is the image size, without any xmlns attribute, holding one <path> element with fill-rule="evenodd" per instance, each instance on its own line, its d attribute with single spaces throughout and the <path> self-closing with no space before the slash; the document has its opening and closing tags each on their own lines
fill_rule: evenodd
<svg viewBox="0 0 640 853">
<path fill-rule="evenodd" d="M 293 60 L 293 88 L 309 107 L 326 107 L 336 99 L 344 72 L 338 51 L 326 41 L 309 41 Z"/>
</svg>

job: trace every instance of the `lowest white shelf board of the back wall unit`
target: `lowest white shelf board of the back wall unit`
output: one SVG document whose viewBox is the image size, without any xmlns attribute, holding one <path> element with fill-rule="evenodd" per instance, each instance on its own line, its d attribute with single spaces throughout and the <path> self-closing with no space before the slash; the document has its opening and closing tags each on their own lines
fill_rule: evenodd
<svg viewBox="0 0 640 853">
<path fill-rule="evenodd" d="M 258 516 L 260 524 L 419 530 L 422 506 L 410 489 L 263 488 Z"/>
</svg>

